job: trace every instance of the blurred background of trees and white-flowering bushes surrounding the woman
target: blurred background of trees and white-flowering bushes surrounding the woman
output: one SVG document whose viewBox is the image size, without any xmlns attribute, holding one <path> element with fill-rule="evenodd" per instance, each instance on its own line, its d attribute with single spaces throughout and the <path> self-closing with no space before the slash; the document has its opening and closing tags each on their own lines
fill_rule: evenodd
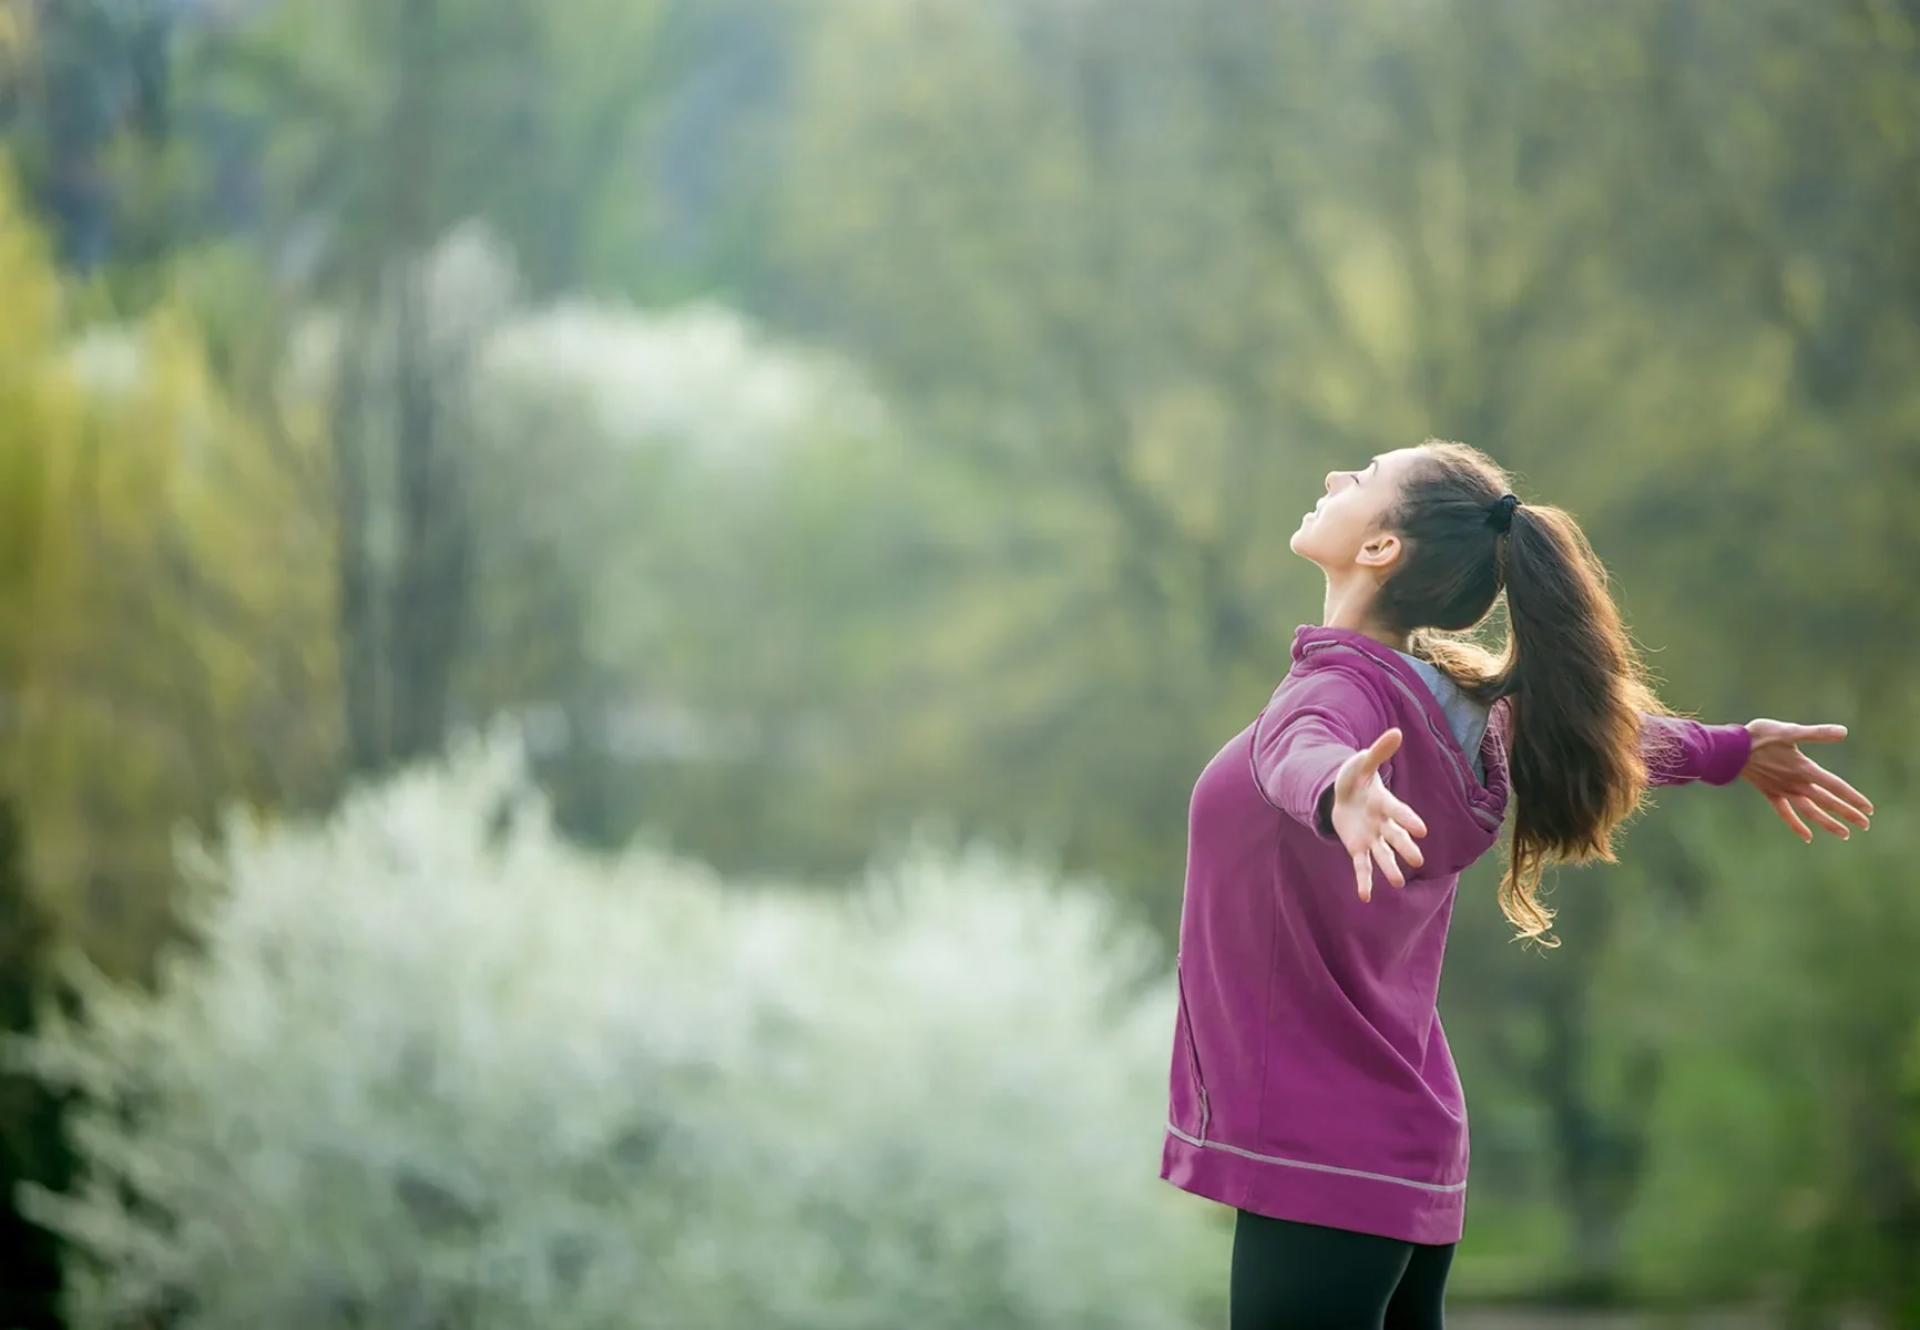
<svg viewBox="0 0 1920 1330">
<path fill-rule="evenodd" d="M 1444 436 L 1880 810 L 1461 885 L 1461 1324 L 1920 1326 L 1914 0 L 6 0 L 0 132 L 0 1324 L 1217 1324 L 1187 795 Z"/>
</svg>

